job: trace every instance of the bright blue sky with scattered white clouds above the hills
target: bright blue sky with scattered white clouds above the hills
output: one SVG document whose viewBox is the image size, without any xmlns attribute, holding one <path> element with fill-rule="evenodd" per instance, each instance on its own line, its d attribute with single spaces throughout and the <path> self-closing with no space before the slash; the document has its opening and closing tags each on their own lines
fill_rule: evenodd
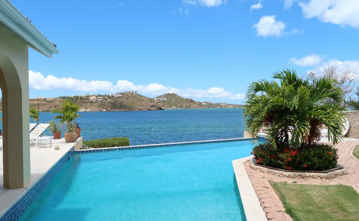
<svg viewBox="0 0 359 221">
<path fill-rule="evenodd" d="M 134 90 L 241 104 L 248 83 L 280 69 L 359 68 L 355 0 L 11 2 L 60 51 L 29 49 L 30 98 Z"/>
</svg>

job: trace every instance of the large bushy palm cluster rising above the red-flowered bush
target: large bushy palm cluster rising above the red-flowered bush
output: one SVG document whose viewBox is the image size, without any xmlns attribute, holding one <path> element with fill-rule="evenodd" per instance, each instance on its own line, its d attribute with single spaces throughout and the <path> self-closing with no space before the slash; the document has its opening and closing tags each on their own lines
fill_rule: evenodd
<svg viewBox="0 0 359 221">
<path fill-rule="evenodd" d="M 267 138 L 273 149 L 303 148 L 318 140 L 320 129 L 328 128 L 328 140 L 335 145 L 342 138 L 345 108 L 340 107 L 342 92 L 335 81 L 320 78 L 309 82 L 299 78 L 295 71 L 275 72 L 275 81 L 252 82 L 247 90 L 247 105 L 243 107 L 246 127 L 257 138 L 257 132 L 268 127 Z M 258 95 L 258 92 L 261 94 Z M 335 104 L 326 104 L 324 99 Z"/>
</svg>

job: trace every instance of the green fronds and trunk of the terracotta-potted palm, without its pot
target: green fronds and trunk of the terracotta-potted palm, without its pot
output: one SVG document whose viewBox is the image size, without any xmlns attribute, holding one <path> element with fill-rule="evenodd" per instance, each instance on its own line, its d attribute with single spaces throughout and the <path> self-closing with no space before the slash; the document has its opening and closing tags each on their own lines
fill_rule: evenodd
<svg viewBox="0 0 359 221">
<path fill-rule="evenodd" d="M 79 108 L 79 104 L 73 104 L 71 101 L 66 100 L 61 104 L 60 109 L 51 110 L 51 114 L 59 113 L 53 119 L 60 119 L 61 124 L 66 124 L 68 132 L 73 132 L 76 131 L 76 126 L 72 124 L 72 121 L 76 123 L 75 119 L 81 116 L 77 113 Z"/>
</svg>

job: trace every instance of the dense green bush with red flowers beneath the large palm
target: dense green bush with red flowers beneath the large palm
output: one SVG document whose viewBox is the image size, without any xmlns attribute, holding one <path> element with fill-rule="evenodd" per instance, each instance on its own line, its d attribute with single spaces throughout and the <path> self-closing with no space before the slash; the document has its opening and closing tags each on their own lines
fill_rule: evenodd
<svg viewBox="0 0 359 221">
<path fill-rule="evenodd" d="M 326 170 L 335 167 L 338 160 L 336 148 L 328 144 L 312 144 L 303 150 L 286 148 L 273 150 L 267 143 L 253 148 L 258 164 L 285 170 Z"/>
</svg>

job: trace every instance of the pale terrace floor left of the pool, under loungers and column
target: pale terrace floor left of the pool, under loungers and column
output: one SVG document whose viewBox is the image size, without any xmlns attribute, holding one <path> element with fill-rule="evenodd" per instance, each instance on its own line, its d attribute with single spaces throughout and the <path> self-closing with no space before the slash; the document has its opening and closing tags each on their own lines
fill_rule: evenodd
<svg viewBox="0 0 359 221">
<path fill-rule="evenodd" d="M 82 139 L 82 137 L 80 138 Z M 81 141 L 80 141 L 81 142 Z M 65 139 L 52 140 L 52 146 L 35 148 L 30 145 L 30 183 L 19 189 L 4 187 L 3 152 L 0 152 L 0 217 L 4 215 L 24 194 L 34 186 L 76 143 L 66 143 Z M 59 146 L 60 150 L 55 150 Z"/>
</svg>

